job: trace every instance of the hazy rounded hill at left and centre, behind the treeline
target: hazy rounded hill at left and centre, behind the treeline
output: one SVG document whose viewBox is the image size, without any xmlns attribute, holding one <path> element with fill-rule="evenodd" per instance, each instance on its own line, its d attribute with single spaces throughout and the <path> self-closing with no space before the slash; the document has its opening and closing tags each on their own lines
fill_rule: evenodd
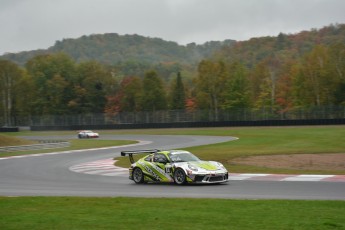
<svg viewBox="0 0 345 230">
<path fill-rule="evenodd" d="M 47 53 L 64 52 L 75 61 L 96 60 L 103 64 L 117 65 L 123 62 L 195 64 L 212 55 L 222 46 L 234 44 L 234 40 L 210 41 L 202 45 L 195 43 L 182 46 L 176 42 L 140 35 L 118 35 L 116 33 L 93 34 L 77 39 L 63 39 L 44 50 L 8 53 L 0 58 L 24 65 L 30 58 Z"/>
</svg>

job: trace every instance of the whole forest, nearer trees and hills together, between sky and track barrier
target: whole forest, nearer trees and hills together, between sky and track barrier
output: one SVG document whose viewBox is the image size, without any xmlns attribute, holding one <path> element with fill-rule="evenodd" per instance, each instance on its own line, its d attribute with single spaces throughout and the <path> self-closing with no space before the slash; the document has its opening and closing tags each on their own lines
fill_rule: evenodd
<svg viewBox="0 0 345 230">
<path fill-rule="evenodd" d="M 217 120 L 238 109 L 345 107 L 345 24 L 186 46 L 139 35 L 66 39 L 0 57 L 0 102 L 0 126 L 21 116 L 207 110 Z"/>
</svg>

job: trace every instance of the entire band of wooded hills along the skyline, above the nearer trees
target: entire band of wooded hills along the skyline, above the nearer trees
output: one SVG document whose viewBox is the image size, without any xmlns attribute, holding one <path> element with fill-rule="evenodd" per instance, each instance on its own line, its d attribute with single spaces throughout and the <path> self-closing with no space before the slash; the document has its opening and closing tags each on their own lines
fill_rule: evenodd
<svg viewBox="0 0 345 230">
<path fill-rule="evenodd" d="M 36 55 L 64 52 L 77 62 L 95 60 L 115 65 L 125 74 L 131 74 L 132 70 L 138 74 L 148 66 L 178 63 L 195 67 L 202 59 L 211 58 L 230 62 L 240 60 L 248 67 L 253 67 L 272 55 L 294 59 L 311 51 L 316 45 L 328 46 L 335 43 L 345 43 L 345 24 L 329 25 L 296 34 L 280 33 L 278 36 L 251 38 L 247 41 L 228 39 L 185 46 L 137 34 L 93 34 L 56 41 L 48 49 L 8 53 L 0 56 L 0 59 L 8 59 L 23 66 Z"/>
</svg>

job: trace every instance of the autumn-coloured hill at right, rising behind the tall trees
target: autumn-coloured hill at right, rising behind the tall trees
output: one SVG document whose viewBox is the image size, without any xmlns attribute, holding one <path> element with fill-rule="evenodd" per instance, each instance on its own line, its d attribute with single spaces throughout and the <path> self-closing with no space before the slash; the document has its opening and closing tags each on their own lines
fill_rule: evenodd
<svg viewBox="0 0 345 230">
<path fill-rule="evenodd" d="M 272 56 L 296 59 L 310 52 L 316 45 L 345 44 L 345 24 L 325 26 L 321 29 L 301 31 L 296 34 L 280 33 L 276 37 L 251 38 L 222 47 L 215 57 L 231 62 L 241 60 L 248 67 Z"/>
</svg>

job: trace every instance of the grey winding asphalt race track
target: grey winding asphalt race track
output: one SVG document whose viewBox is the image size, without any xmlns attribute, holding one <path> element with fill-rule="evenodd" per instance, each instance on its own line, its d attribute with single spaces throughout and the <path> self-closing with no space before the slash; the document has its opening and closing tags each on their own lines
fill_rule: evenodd
<svg viewBox="0 0 345 230">
<path fill-rule="evenodd" d="M 39 139 L 42 138 L 44 137 Z M 45 138 L 61 139 L 62 137 Z M 66 138 L 75 137 L 63 137 L 63 139 Z M 140 140 L 141 145 L 0 158 L 0 196 L 345 200 L 344 182 L 231 180 L 227 184 L 219 185 L 137 185 L 123 174 L 104 176 L 70 170 L 75 165 L 119 156 L 120 151 L 123 150 L 181 149 L 234 139 L 231 137 L 174 135 L 108 135 L 101 138 Z"/>
</svg>

